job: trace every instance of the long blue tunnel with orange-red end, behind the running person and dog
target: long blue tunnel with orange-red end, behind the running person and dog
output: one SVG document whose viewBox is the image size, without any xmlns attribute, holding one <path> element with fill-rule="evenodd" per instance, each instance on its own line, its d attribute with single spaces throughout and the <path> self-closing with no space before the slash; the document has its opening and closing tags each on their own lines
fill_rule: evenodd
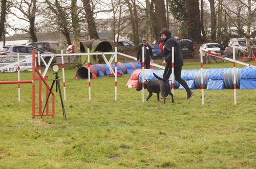
<svg viewBox="0 0 256 169">
<path fill-rule="evenodd" d="M 163 77 L 164 70 L 144 70 L 145 80 L 156 79 L 153 73 Z M 187 82 L 190 89 L 201 89 L 201 70 L 182 70 L 181 78 Z M 236 68 L 237 89 L 256 89 L 256 68 Z M 172 84 L 172 76 L 169 78 Z M 203 70 L 204 88 L 214 89 L 233 89 L 233 68 L 204 69 Z M 126 87 L 137 87 L 142 82 L 142 70 L 134 71 L 126 83 Z M 176 89 L 184 89 L 174 80 Z"/>
</svg>

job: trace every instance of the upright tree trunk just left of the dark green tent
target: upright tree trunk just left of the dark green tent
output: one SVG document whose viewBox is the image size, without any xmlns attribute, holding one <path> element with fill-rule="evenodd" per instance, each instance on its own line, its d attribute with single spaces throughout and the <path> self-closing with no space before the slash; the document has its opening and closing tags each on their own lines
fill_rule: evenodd
<svg viewBox="0 0 256 169">
<path fill-rule="evenodd" d="M 77 0 L 71 1 L 71 17 L 72 17 L 72 27 L 74 32 L 74 45 L 75 45 L 75 53 L 80 53 L 80 28 L 78 22 L 78 14 L 77 14 Z M 81 66 L 81 56 L 77 56 L 74 59 L 74 66 L 79 67 Z"/>
</svg>

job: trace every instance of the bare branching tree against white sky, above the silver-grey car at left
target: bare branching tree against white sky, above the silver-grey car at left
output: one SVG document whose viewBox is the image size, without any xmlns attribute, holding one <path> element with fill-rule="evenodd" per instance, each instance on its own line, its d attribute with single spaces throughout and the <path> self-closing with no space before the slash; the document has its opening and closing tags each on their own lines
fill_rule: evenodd
<svg viewBox="0 0 256 169">
<path fill-rule="evenodd" d="M 12 15 L 14 15 L 20 20 L 23 20 L 29 23 L 28 27 L 12 26 L 12 29 L 14 31 L 20 30 L 20 31 L 29 33 L 32 42 L 37 42 L 35 16 L 36 16 L 36 12 L 38 11 L 38 8 L 36 7 L 36 0 L 22 0 L 22 1 L 13 0 L 11 7 L 17 9 L 20 13 L 23 14 L 23 15 L 19 15 L 19 13 L 14 13 L 13 11 L 10 11 Z"/>
</svg>

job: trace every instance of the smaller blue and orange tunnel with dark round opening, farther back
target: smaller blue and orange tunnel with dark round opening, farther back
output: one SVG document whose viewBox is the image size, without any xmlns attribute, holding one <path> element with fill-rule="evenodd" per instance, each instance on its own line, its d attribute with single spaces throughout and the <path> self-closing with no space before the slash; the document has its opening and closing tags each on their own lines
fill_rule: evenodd
<svg viewBox="0 0 256 169">
<path fill-rule="evenodd" d="M 111 68 L 115 71 L 115 64 L 111 64 Z M 117 76 L 122 76 L 122 74 L 132 74 L 135 69 L 140 69 L 141 66 L 137 62 L 129 63 L 117 63 Z M 154 69 L 154 67 L 152 67 Z M 110 68 L 106 64 L 95 64 L 90 65 L 90 76 L 92 78 L 102 77 L 102 76 L 113 76 Z M 75 78 L 87 79 L 88 78 L 88 66 L 79 67 L 76 71 Z"/>
</svg>

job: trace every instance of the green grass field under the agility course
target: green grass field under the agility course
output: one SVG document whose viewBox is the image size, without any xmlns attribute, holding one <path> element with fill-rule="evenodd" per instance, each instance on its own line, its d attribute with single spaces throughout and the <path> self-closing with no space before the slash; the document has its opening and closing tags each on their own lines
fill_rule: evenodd
<svg viewBox="0 0 256 169">
<path fill-rule="evenodd" d="M 200 63 L 185 61 L 184 69 L 200 69 Z M 20 102 L 17 85 L 1 85 L 0 168 L 256 167 L 255 89 L 238 90 L 237 105 L 233 90 L 205 90 L 204 105 L 201 90 L 193 90 L 191 100 L 175 90 L 174 103 L 158 102 L 156 95 L 142 103 L 142 92 L 125 88 L 124 74 L 118 77 L 117 101 L 113 77 L 92 79 L 89 101 L 88 81 L 75 80 L 75 72 L 65 70 L 67 121 L 55 91 L 55 117 L 32 119 L 31 85 L 21 85 Z M 22 72 L 21 80 L 31 76 Z M 17 73 L 0 74 L 0 80 L 16 79 Z"/>
</svg>

